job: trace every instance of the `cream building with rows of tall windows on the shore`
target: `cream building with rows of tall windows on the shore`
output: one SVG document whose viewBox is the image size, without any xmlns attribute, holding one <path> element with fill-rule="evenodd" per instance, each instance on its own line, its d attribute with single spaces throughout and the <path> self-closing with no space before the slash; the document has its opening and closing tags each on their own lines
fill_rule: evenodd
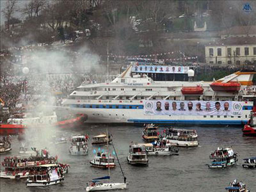
<svg viewBox="0 0 256 192">
<path fill-rule="evenodd" d="M 205 45 L 205 62 L 256 65 L 256 37 L 231 37 Z"/>
</svg>

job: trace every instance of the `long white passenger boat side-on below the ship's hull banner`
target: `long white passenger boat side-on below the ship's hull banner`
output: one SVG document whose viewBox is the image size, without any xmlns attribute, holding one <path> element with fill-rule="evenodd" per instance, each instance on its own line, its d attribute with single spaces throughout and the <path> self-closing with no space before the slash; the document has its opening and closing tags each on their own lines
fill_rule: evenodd
<svg viewBox="0 0 256 192">
<path fill-rule="evenodd" d="M 198 135 L 193 129 L 165 129 L 166 143 L 177 147 L 195 147 L 198 146 Z"/>
</svg>

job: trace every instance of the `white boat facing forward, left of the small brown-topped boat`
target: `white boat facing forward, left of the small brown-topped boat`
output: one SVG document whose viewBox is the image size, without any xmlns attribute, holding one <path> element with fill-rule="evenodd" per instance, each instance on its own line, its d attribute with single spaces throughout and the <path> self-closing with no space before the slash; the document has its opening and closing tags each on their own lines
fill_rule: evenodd
<svg viewBox="0 0 256 192">
<path fill-rule="evenodd" d="M 87 155 L 88 154 L 88 137 L 81 134 L 74 134 L 72 136 L 71 146 L 69 152 L 71 155 Z"/>
</svg>

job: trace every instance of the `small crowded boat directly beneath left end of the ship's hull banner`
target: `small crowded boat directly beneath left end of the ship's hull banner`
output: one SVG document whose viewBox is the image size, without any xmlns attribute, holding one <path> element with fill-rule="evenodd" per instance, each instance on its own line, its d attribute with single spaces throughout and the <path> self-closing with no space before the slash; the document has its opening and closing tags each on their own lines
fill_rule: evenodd
<svg viewBox="0 0 256 192">
<path fill-rule="evenodd" d="M 145 125 L 145 127 L 143 129 L 142 138 L 146 142 L 152 142 L 155 140 L 159 140 L 158 127 L 153 124 Z"/>
</svg>

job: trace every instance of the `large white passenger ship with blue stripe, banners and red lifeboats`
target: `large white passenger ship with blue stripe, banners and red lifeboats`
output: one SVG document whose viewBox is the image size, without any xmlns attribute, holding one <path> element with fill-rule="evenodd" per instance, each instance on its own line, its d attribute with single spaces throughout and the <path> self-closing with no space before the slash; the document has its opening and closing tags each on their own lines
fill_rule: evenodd
<svg viewBox="0 0 256 192">
<path fill-rule="evenodd" d="M 249 100 L 256 97 L 253 74 L 191 81 L 189 67 L 129 65 L 109 83 L 81 84 L 63 107 L 86 113 L 87 123 L 241 125 L 250 118 Z M 160 75 L 168 81 L 153 80 Z"/>
</svg>

